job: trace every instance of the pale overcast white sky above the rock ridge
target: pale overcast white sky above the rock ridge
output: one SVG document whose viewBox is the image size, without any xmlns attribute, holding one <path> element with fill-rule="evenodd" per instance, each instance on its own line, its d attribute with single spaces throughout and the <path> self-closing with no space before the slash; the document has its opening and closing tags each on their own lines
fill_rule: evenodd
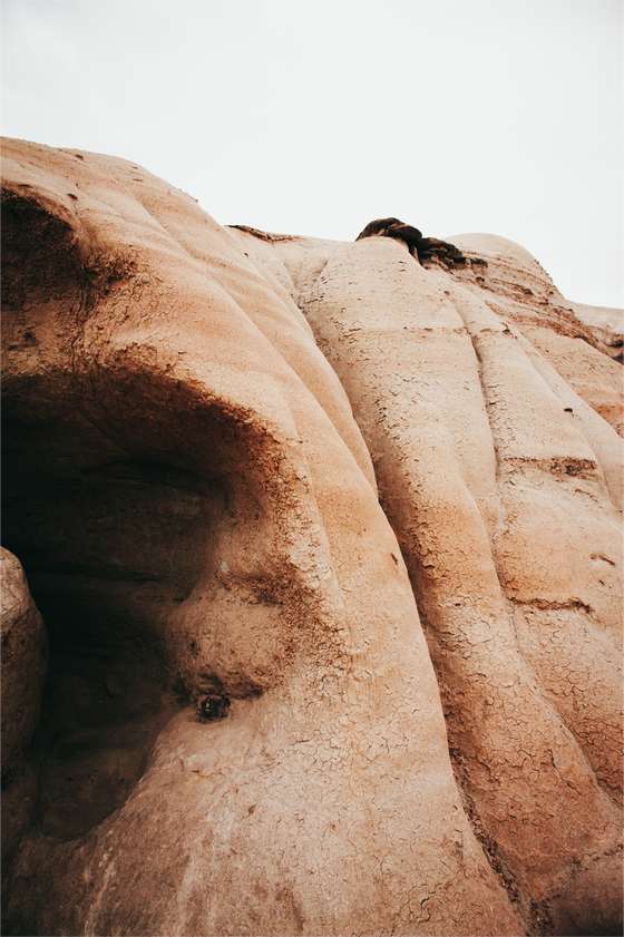
<svg viewBox="0 0 624 937">
<path fill-rule="evenodd" d="M 0 0 L 0 134 L 223 224 L 493 232 L 624 306 L 624 0 Z"/>
</svg>

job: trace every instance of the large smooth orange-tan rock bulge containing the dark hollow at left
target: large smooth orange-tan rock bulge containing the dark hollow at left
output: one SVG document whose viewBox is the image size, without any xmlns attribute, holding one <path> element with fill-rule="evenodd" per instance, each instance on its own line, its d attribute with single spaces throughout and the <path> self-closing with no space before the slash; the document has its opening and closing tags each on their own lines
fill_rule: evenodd
<svg viewBox="0 0 624 937">
<path fill-rule="evenodd" d="M 301 316 L 144 170 L 2 152 L 2 526 L 51 643 L 7 927 L 519 935 Z"/>
</svg>

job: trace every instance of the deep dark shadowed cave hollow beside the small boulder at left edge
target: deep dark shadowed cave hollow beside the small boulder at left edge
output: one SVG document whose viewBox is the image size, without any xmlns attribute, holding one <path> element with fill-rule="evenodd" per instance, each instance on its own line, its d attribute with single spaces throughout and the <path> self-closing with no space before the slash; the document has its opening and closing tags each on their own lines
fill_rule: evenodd
<svg viewBox="0 0 624 937">
<path fill-rule="evenodd" d="M 78 418 L 0 431 L 0 543 L 25 568 L 50 646 L 27 753 L 39 779 L 32 819 L 46 837 L 74 839 L 125 802 L 158 733 L 188 705 L 160 631 L 197 580 L 222 496 L 130 458 Z"/>
</svg>

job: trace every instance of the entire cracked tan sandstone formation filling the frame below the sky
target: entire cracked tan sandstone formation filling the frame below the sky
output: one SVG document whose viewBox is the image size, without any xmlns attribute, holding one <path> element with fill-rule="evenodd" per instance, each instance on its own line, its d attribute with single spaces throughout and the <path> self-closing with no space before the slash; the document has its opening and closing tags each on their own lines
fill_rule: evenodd
<svg viewBox="0 0 624 937">
<path fill-rule="evenodd" d="M 603 311 L 0 152 L 2 933 L 622 933 Z"/>
</svg>

